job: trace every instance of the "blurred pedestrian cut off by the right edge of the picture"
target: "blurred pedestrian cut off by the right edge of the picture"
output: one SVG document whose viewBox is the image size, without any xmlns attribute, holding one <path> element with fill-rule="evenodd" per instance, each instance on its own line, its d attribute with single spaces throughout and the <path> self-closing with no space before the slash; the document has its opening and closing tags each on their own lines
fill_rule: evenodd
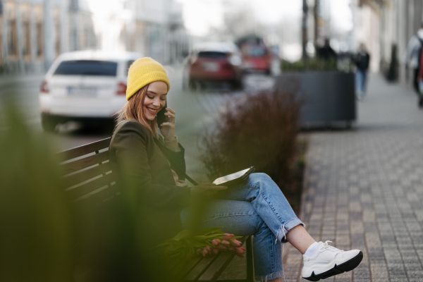
<svg viewBox="0 0 423 282">
<path fill-rule="evenodd" d="M 419 75 L 419 71 L 421 68 L 420 56 L 422 53 L 422 46 L 423 23 L 420 25 L 420 28 L 419 30 L 417 30 L 417 33 L 410 38 L 410 41 L 407 45 L 407 53 L 405 54 L 405 66 L 407 66 L 407 69 L 412 68 L 414 70 L 412 77 L 412 85 L 415 88 L 417 95 L 419 96 L 419 82 L 417 80 L 417 76 Z"/>
</svg>

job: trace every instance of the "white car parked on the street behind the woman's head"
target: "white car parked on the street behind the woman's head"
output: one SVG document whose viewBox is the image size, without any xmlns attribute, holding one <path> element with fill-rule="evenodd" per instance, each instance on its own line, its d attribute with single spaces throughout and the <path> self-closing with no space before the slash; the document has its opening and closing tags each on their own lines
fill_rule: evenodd
<svg viewBox="0 0 423 282">
<path fill-rule="evenodd" d="M 111 120 L 126 103 L 128 68 L 142 55 L 133 52 L 75 51 L 61 54 L 39 90 L 42 128 L 59 123 Z"/>
</svg>

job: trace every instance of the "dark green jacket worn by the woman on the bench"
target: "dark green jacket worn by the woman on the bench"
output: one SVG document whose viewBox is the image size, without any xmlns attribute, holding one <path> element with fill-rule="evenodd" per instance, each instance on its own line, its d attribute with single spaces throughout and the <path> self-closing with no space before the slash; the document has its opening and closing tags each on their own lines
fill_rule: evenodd
<svg viewBox="0 0 423 282">
<path fill-rule="evenodd" d="M 168 150 L 168 154 L 185 171 L 185 149 L 179 147 L 180 152 Z M 190 188 L 175 185 L 171 166 L 152 133 L 137 121 L 123 121 L 111 137 L 109 154 L 122 200 L 130 207 L 138 231 L 152 234 L 147 237 L 154 243 L 181 231 L 180 208 L 188 206 Z"/>
</svg>

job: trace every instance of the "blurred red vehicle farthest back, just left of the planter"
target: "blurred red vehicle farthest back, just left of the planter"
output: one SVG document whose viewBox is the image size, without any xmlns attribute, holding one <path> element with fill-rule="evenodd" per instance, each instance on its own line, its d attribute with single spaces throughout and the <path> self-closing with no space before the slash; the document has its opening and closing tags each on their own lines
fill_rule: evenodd
<svg viewBox="0 0 423 282">
<path fill-rule="evenodd" d="M 264 44 L 246 42 L 241 46 L 246 71 L 271 73 L 271 51 Z"/>
</svg>

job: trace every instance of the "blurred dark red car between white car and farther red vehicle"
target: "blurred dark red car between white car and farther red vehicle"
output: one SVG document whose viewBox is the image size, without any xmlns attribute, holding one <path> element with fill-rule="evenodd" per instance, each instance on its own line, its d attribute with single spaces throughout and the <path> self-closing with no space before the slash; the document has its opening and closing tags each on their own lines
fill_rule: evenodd
<svg viewBox="0 0 423 282">
<path fill-rule="evenodd" d="M 197 44 L 188 57 L 189 85 L 199 82 L 231 82 L 233 87 L 242 87 L 242 56 L 232 42 L 207 42 Z"/>
</svg>

